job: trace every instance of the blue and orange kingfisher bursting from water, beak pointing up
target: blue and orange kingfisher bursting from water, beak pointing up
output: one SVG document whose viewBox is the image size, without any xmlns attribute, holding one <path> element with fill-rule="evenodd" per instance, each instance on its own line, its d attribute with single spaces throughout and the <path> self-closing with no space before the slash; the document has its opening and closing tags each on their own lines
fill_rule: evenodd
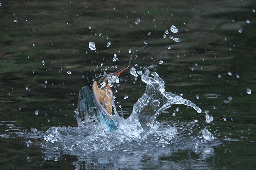
<svg viewBox="0 0 256 170">
<path fill-rule="evenodd" d="M 104 75 L 98 82 L 94 81 L 92 90 L 84 86 L 78 96 L 78 118 L 87 121 L 104 121 L 110 127 L 110 131 L 117 128 L 117 124 L 111 120 L 113 92 L 110 87 L 116 82 L 117 77 L 129 66 Z"/>
</svg>

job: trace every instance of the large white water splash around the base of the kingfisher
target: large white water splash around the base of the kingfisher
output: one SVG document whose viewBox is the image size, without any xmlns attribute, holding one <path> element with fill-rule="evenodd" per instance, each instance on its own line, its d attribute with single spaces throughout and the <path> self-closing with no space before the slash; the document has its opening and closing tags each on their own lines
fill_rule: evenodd
<svg viewBox="0 0 256 170">
<path fill-rule="evenodd" d="M 116 107 L 113 107 L 115 114 L 109 115 L 109 119 L 116 122 L 116 130 L 111 132 L 108 124 L 99 118 L 95 118 L 94 121 L 91 121 L 90 118 L 79 119 L 79 111 L 76 109 L 75 116 L 78 120 L 78 127 L 51 127 L 44 134 L 46 142 L 43 147 L 46 150 L 64 151 L 66 154 L 75 155 L 113 151 L 129 152 L 143 149 L 143 147 L 148 147 L 147 150 L 170 147 L 170 144 L 178 141 L 177 128 L 170 124 L 164 128 L 161 127 L 161 123 L 157 121 L 161 112 L 173 104 L 190 106 L 198 113 L 201 113 L 202 110 L 191 101 L 166 92 L 165 83 L 156 72 L 152 72 L 151 76 L 149 70 L 146 70 L 141 76 L 142 81 L 146 83 L 146 90 L 133 105 L 132 113 L 127 119 L 118 116 Z M 202 133 L 208 135 L 208 138 L 200 137 L 201 143 L 211 139 L 206 130 Z M 189 144 L 192 148 L 195 145 L 194 141 L 195 139 L 191 139 Z M 198 139 L 196 141 L 198 145 L 200 142 Z"/>
</svg>

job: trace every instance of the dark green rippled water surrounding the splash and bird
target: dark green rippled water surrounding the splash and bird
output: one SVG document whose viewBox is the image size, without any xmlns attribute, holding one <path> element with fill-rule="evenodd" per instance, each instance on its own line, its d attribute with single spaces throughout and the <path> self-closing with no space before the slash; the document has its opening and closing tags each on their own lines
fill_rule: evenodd
<svg viewBox="0 0 256 170">
<path fill-rule="evenodd" d="M 256 167 L 255 1 L 0 3 L 0 169 Z M 170 31 L 171 25 L 178 28 L 177 33 Z M 181 41 L 163 38 L 166 29 Z M 96 51 L 89 49 L 90 41 Z M 111 45 L 106 47 L 109 41 Z M 114 54 L 119 59 L 116 62 Z M 166 91 L 183 94 L 214 118 L 206 123 L 204 113 L 178 105 L 161 114 L 159 122 L 176 125 L 181 129 L 179 135 L 186 138 L 193 138 L 207 126 L 216 145 L 206 143 L 199 153 L 170 147 L 159 148 L 156 155 L 146 150 L 139 155 L 90 154 L 79 163 L 77 155 L 60 152 L 56 156 L 45 151 L 41 143 L 47 129 L 77 126 L 74 110 L 80 88 L 98 80 L 105 68 L 113 72 L 115 66 L 127 66 L 129 60 L 136 70 L 149 67 L 156 71 L 165 81 Z M 131 113 L 146 85 L 140 76 L 135 81 L 129 71 L 120 78 L 123 80 L 113 92 L 117 91 L 116 101 L 123 111 Z M 172 116 L 177 107 L 179 111 Z M 194 120 L 198 122 L 189 134 L 188 125 Z M 31 127 L 37 133 L 31 132 Z"/>
</svg>

